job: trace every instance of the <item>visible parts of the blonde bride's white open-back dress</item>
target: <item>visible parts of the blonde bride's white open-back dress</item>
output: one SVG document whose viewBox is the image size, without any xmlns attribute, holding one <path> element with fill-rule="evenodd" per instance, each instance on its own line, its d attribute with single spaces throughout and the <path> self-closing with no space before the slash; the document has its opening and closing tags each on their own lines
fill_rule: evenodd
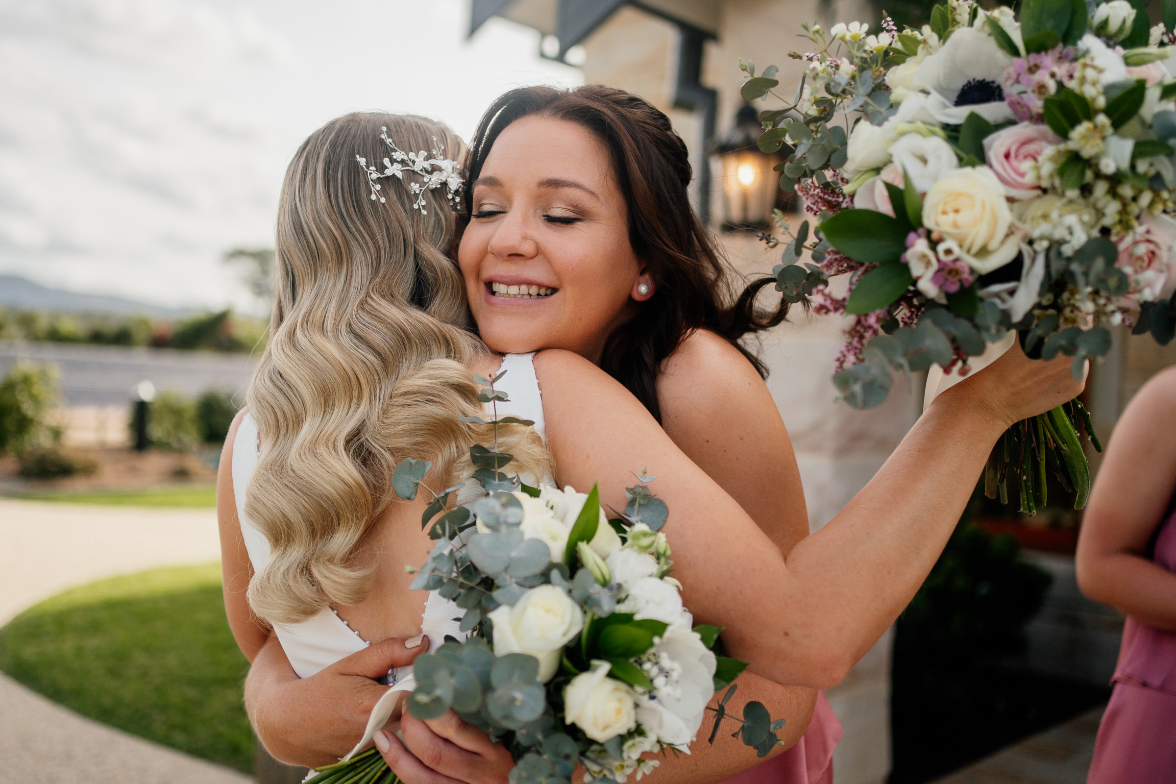
<svg viewBox="0 0 1176 784">
<path fill-rule="evenodd" d="M 506 370 L 507 374 L 495 384 L 495 389 L 507 393 L 510 402 L 499 403 L 499 415 L 512 415 L 534 421 L 535 431 L 546 440 L 543 401 L 539 390 L 539 380 L 535 377 L 534 356 L 534 354 L 508 354 L 503 357 L 499 373 Z M 486 406 L 486 409 L 490 410 L 489 404 Z M 256 465 L 258 425 L 253 417 L 246 414 L 241 418 L 236 438 L 233 441 L 233 492 L 236 498 L 238 520 L 241 522 L 241 537 L 245 540 L 245 548 L 249 554 L 254 572 L 265 568 L 269 559 L 269 542 L 261 531 L 254 528 L 245 514 L 245 498 Z M 552 478 L 544 477 L 544 483 L 550 484 Z M 468 496 L 459 497 L 459 501 L 465 500 L 468 500 Z M 457 629 L 459 624 L 454 621 L 463 614 L 465 611 L 453 601 L 442 597 L 436 591 L 429 592 L 425 604 L 425 615 L 421 618 L 421 632 L 429 639 L 429 650 L 435 651 L 440 648 L 447 635 L 457 639 L 466 638 L 466 634 Z M 323 608 L 314 616 L 299 623 L 274 624 L 274 632 L 300 678 L 308 678 L 319 670 L 370 644 L 353 631 L 347 622 L 330 608 Z M 389 684 L 395 685 L 389 689 L 386 697 L 394 691 L 412 689 L 414 684 L 412 668 L 400 668 L 389 672 L 388 681 Z M 387 709 L 390 711 L 394 701 L 381 699 L 380 702 L 381 706 L 387 703 Z M 366 745 L 372 739 L 372 733 L 383 726 L 388 715 L 386 713 L 382 719 L 379 718 L 379 713 L 382 712 L 381 706 L 373 711 L 372 721 L 368 722 L 368 732 L 352 753 Z"/>
</svg>

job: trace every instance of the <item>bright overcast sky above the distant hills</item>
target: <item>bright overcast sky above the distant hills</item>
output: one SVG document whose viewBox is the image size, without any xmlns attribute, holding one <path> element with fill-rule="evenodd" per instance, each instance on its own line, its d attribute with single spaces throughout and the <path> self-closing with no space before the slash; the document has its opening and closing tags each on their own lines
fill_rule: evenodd
<svg viewBox="0 0 1176 784">
<path fill-rule="evenodd" d="M 573 85 L 469 0 L 0 0 L 0 273 L 239 308 L 225 250 L 268 247 L 282 172 L 353 109 L 467 138 L 519 85 Z"/>
</svg>

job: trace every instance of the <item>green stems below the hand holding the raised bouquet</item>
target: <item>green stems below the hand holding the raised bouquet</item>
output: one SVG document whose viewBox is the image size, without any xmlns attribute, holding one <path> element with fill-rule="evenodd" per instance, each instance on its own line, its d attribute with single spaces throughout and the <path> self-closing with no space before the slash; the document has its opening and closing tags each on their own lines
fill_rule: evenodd
<svg viewBox="0 0 1176 784">
<path fill-rule="evenodd" d="M 1062 488 L 1074 494 L 1074 508 L 1085 507 L 1090 497 L 1090 465 L 1082 451 L 1080 427 L 1095 450 L 1102 451 L 1090 413 L 1077 398 L 1005 430 L 988 456 L 984 495 L 1008 503 L 1011 480 L 1018 490 L 1020 510 L 1035 515 L 1038 507 L 1044 508 L 1049 502 L 1047 476 L 1053 473 Z"/>
</svg>

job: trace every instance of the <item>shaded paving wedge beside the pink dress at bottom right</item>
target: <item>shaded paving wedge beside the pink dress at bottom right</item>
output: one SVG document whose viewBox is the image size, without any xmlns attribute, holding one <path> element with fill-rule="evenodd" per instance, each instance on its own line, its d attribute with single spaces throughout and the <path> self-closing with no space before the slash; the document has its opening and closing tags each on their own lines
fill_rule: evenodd
<svg viewBox="0 0 1176 784">
<path fill-rule="evenodd" d="M 1035 735 L 935 784 L 1085 784 L 1104 709 Z"/>
</svg>

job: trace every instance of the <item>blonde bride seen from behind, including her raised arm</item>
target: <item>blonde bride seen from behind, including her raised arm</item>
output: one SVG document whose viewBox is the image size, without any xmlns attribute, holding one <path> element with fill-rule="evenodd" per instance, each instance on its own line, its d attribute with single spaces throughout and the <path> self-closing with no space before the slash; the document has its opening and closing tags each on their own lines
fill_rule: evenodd
<svg viewBox="0 0 1176 784">
<path fill-rule="evenodd" d="M 468 374 L 497 362 L 457 328 L 465 314 L 457 273 L 437 261 L 453 230 L 443 190 L 417 194 L 389 179 L 386 200 L 369 199 L 354 155 L 386 154 L 381 126 L 403 149 L 429 149 L 432 136 L 447 150 L 457 146 L 425 121 L 348 115 L 299 150 L 280 205 L 273 335 L 249 394 L 260 435 L 247 420 L 235 424 L 220 480 L 234 634 L 252 661 L 270 629 L 278 632 L 309 684 L 283 710 L 301 699 L 308 715 L 327 703 L 362 715 L 367 696 L 320 688 L 338 681 L 313 682 L 323 672 L 343 674 L 339 659 L 350 652 L 358 658 L 347 666 L 374 675 L 380 656 L 356 664 L 367 652 L 363 639 L 416 636 L 422 607 L 428 625 L 426 597 L 407 591 L 402 570 L 423 562 L 432 545 L 417 524 L 427 500 L 390 502 L 390 467 L 405 456 L 432 460 L 427 483 L 434 489 L 468 471 L 463 455 L 480 434 L 454 420 L 475 408 Z M 1080 388 L 1065 362 L 1037 364 L 1010 351 L 936 400 L 874 482 L 786 558 L 641 403 L 590 362 L 566 351 L 508 361 L 515 364 L 505 381 L 514 380 L 520 400 L 532 400 L 517 413 L 544 424 L 561 484 L 599 481 L 602 502 L 620 507 L 630 471 L 656 467 L 657 494 L 673 510 L 666 531 L 683 598 L 700 622 L 727 628 L 729 651 L 751 663 L 736 699 L 760 699 L 784 717 L 787 742 L 803 732 L 811 692 L 795 701 L 770 682 L 838 682 L 934 564 L 996 437 Z M 535 406 L 539 386 L 543 396 Z M 509 437 L 521 468 L 540 476 L 534 436 Z M 327 628 L 329 652 L 314 651 Z M 396 644 L 377 652 L 395 665 L 410 658 Z M 308 702 L 308 695 L 321 698 Z M 254 704 L 250 713 L 265 709 Z M 336 751 L 339 737 L 318 743 L 316 725 L 295 732 L 293 746 L 281 746 L 265 728 L 260 735 L 289 762 L 318 764 L 346 751 Z M 407 784 L 506 780 L 509 758 L 469 728 L 406 718 L 401 729 L 403 741 L 388 732 L 375 741 Z M 737 742 L 721 739 L 664 760 L 654 776 L 709 783 L 756 762 Z"/>
</svg>

